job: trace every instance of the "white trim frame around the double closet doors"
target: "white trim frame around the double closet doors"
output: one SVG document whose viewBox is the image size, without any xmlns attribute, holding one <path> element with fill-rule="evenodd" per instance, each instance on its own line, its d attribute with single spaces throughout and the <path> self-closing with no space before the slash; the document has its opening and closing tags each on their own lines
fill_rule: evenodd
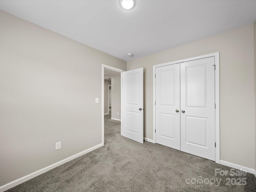
<svg viewBox="0 0 256 192">
<path fill-rule="evenodd" d="M 158 64 L 153 66 L 153 142 L 156 143 L 156 67 L 166 66 L 166 65 L 172 65 L 176 63 L 182 63 L 192 60 L 198 60 L 202 58 L 208 58 L 214 56 L 214 64 L 216 67 L 215 70 L 215 142 L 216 142 L 216 148 L 215 148 L 215 162 L 220 164 L 220 52 L 215 52 L 211 54 L 201 55 L 197 57 L 182 59 L 178 61 Z"/>
</svg>

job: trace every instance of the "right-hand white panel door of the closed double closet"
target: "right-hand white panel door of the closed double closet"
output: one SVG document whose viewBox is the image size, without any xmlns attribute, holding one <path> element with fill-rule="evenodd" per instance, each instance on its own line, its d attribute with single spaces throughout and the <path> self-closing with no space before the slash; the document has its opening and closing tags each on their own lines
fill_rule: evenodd
<svg viewBox="0 0 256 192">
<path fill-rule="evenodd" d="M 214 57 L 180 64 L 181 150 L 215 160 Z"/>
</svg>

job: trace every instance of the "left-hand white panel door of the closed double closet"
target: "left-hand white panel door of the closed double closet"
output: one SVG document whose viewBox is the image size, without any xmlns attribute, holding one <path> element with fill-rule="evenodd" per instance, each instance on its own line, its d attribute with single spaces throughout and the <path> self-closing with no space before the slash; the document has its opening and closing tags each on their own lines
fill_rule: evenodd
<svg viewBox="0 0 256 192">
<path fill-rule="evenodd" d="M 180 150 L 180 64 L 156 68 L 156 143 Z"/>
</svg>

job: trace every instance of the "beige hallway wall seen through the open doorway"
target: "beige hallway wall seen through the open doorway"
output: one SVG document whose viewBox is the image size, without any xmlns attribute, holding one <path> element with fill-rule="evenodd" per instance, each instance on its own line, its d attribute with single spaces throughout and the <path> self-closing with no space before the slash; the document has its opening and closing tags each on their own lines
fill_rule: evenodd
<svg viewBox="0 0 256 192">
<path fill-rule="evenodd" d="M 111 118 L 121 120 L 121 74 L 112 76 L 111 82 Z"/>
</svg>

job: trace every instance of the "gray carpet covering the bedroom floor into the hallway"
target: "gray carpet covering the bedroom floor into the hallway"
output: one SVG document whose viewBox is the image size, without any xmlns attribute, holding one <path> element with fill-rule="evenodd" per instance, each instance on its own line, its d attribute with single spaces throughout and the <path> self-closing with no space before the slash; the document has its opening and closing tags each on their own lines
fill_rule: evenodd
<svg viewBox="0 0 256 192">
<path fill-rule="evenodd" d="M 228 170 L 228 175 L 215 176 L 215 168 Z M 8 192 L 256 191 L 256 178 L 253 174 L 230 176 L 230 169 L 159 144 L 140 144 L 124 138 L 120 136 L 120 122 L 110 120 L 110 115 L 105 115 L 103 147 L 24 182 Z M 202 178 L 203 183 L 197 183 L 193 178 Z M 231 180 L 230 185 L 226 185 L 228 178 Z M 232 185 L 242 184 L 240 178 L 245 178 L 243 180 L 247 184 Z M 220 185 L 216 179 L 218 182 L 221 179 Z M 208 183 L 210 180 L 215 183 Z"/>
</svg>

